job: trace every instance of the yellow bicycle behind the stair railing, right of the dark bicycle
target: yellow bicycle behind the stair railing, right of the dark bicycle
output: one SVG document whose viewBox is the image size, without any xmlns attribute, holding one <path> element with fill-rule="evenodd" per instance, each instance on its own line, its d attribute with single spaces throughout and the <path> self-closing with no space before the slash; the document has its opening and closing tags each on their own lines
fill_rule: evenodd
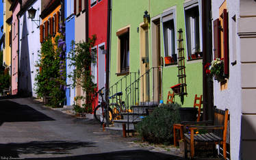
<svg viewBox="0 0 256 160">
<path fill-rule="evenodd" d="M 116 99 L 116 103 L 111 103 L 110 108 L 113 111 L 113 119 L 114 120 L 121 120 L 123 116 L 121 115 L 122 112 L 126 112 L 127 109 L 125 107 L 125 102 L 122 101 L 121 96 L 123 92 L 117 92 L 113 96 L 110 96 L 110 99 Z"/>
</svg>

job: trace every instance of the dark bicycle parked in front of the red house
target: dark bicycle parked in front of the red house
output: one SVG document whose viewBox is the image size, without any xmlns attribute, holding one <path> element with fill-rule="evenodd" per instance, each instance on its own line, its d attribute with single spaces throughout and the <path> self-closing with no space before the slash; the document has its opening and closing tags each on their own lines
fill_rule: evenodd
<svg viewBox="0 0 256 160">
<path fill-rule="evenodd" d="M 99 101 L 99 105 L 97 105 L 97 107 L 95 107 L 95 109 L 94 109 L 94 112 L 93 112 L 94 118 L 95 118 L 95 120 L 99 121 L 101 124 L 103 124 L 103 123 L 111 124 L 112 120 L 113 120 L 113 111 L 109 107 L 109 105 L 107 105 L 107 103 L 104 101 L 103 89 L 104 89 L 104 87 L 95 93 L 96 96 L 97 96 L 97 94 L 99 94 L 99 96 L 101 96 L 101 101 Z M 108 111 L 108 113 L 107 113 L 107 111 Z M 99 115 L 99 117 L 97 115 Z M 108 117 L 108 120 L 107 120 L 107 117 Z"/>
</svg>

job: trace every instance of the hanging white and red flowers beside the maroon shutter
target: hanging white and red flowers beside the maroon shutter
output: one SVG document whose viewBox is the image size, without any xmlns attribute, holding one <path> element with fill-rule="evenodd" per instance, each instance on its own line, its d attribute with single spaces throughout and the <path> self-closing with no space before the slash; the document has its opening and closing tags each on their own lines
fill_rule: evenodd
<svg viewBox="0 0 256 160">
<path fill-rule="evenodd" d="M 223 59 L 216 58 L 212 63 L 205 64 L 205 73 L 218 82 L 225 81 Z"/>
</svg>

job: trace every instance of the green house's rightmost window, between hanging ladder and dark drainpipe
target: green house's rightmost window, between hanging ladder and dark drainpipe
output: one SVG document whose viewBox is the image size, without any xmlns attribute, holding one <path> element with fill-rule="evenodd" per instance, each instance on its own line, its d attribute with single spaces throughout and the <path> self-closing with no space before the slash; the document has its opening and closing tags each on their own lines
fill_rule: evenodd
<svg viewBox="0 0 256 160">
<path fill-rule="evenodd" d="M 188 59 L 202 57 L 199 27 L 199 6 L 185 9 L 185 31 L 187 37 Z"/>
</svg>

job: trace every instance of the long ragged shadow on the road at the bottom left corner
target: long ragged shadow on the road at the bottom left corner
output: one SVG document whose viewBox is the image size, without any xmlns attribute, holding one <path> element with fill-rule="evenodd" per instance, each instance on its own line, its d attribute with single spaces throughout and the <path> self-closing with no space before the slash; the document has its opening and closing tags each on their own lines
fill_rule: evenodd
<svg viewBox="0 0 256 160">
<path fill-rule="evenodd" d="M 66 141 L 51 141 L 51 142 L 29 142 L 29 143 L 10 143 L 0 144 L 0 157 L 17 158 L 21 154 L 34 155 L 64 155 L 70 154 L 69 150 L 94 147 L 94 142 L 66 142 Z"/>
</svg>

